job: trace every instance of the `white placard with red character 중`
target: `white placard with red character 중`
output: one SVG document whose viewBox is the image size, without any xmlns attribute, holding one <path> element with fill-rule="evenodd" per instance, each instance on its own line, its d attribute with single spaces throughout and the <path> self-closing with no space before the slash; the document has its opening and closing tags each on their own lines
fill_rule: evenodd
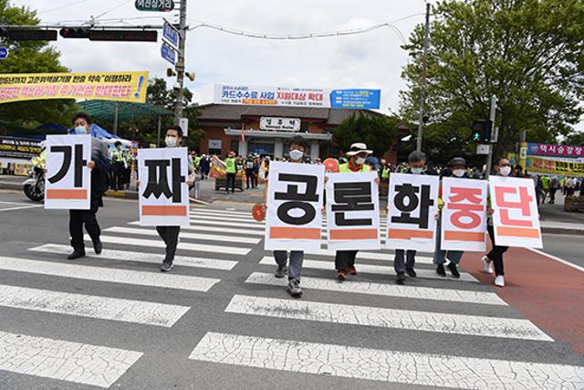
<svg viewBox="0 0 584 390">
<path fill-rule="evenodd" d="M 487 187 L 485 180 L 443 178 L 443 250 L 485 252 Z"/>
</svg>

